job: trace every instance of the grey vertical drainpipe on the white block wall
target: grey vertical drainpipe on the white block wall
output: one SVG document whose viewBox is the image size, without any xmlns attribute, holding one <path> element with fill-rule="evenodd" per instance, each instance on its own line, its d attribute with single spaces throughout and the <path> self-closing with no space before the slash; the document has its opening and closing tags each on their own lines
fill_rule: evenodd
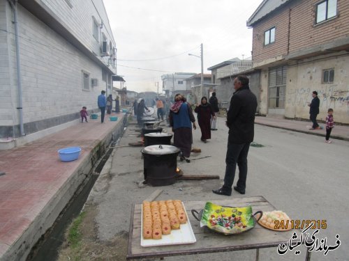
<svg viewBox="0 0 349 261">
<path fill-rule="evenodd" d="M 21 65 L 20 65 L 20 41 L 18 39 L 18 22 L 17 22 L 17 0 L 8 1 L 13 8 L 13 24 L 15 25 L 15 46 L 16 46 L 16 63 L 17 63 L 17 88 L 18 88 L 18 106 L 20 110 L 20 134 L 25 136 L 23 125 L 23 101 L 22 101 L 22 81 L 21 81 Z"/>
</svg>

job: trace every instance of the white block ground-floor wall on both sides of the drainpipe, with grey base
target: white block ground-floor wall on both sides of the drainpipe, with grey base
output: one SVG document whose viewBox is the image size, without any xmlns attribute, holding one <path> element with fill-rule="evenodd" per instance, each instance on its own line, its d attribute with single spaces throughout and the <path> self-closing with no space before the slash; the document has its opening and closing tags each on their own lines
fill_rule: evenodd
<svg viewBox="0 0 349 261">
<path fill-rule="evenodd" d="M 7 1 L 1 1 L 3 3 L 5 8 L 1 6 L 0 10 L 5 9 L 7 13 L 5 22 L 1 15 L 0 23 L 6 23 L 8 28 L 8 61 L 5 58 L 5 65 L 2 66 L 2 60 L 0 65 L 0 72 L 4 72 L 1 91 L 7 95 L 0 102 L 0 138 L 19 136 L 13 17 Z M 97 96 L 106 88 L 102 68 L 20 5 L 17 15 L 24 132 L 30 134 L 77 119 L 82 106 L 98 111 Z M 6 56 L 5 44 L 1 42 L 0 52 Z M 82 87 L 82 71 L 89 73 L 89 90 Z M 98 79 L 98 86 L 91 87 L 91 78 Z"/>
</svg>

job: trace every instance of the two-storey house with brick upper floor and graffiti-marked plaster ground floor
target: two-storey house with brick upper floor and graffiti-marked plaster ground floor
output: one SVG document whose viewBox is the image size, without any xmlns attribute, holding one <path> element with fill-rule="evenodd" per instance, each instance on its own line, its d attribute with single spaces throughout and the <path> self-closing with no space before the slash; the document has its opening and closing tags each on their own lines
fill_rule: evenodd
<svg viewBox="0 0 349 261">
<path fill-rule="evenodd" d="M 311 93 L 320 114 L 349 123 L 349 1 L 265 0 L 248 19 L 253 68 L 260 70 L 260 113 L 309 118 Z"/>
</svg>

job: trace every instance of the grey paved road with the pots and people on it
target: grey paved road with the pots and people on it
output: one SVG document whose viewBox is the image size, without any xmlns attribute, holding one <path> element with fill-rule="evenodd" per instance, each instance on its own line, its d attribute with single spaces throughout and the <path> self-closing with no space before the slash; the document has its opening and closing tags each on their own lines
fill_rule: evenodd
<svg viewBox="0 0 349 261">
<path fill-rule="evenodd" d="M 134 125 L 126 130 L 120 145 L 138 141 Z M 168 129 L 170 132 L 170 129 Z M 228 130 L 223 118 L 218 119 L 218 131 L 212 132 L 208 143 L 200 141 L 200 129 L 194 132 L 194 147 L 202 149 L 195 157 L 211 155 L 207 159 L 178 162 L 184 173 L 220 175 L 223 179 L 225 151 Z M 251 147 L 248 157 L 248 181 L 245 196 L 264 196 L 276 209 L 289 214 L 292 219 L 326 220 L 327 229 L 320 230 L 318 237 L 327 237 L 334 245 L 338 233 L 341 246 L 324 256 L 313 253 L 312 260 L 349 260 L 349 214 L 348 198 L 348 152 L 347 141 L 324 143 L 319 136 L 291 132 L 272 127 L 255 126 L 255 142 L 265 145 Z M 115 242 L 117 235 L 126 235 L 132 203 L 140 203 L 159 187 L 139 188 L 142 180 L 142 159 L 140 148 L 119 148 L 115 150 L 110 169 L 98 179 L 87 204 L 98 206 L 96 224 L 101 242 Z M 179 198 L 181 200 L 221 199 L 211 189 L 221 186 L 222 180 L 182 181 L 168 187 L 160 187 L 163 193 L 157 200 Z M 235 180 L 236 182 L 236 180 Z M 241 197 L 237 193 L 232 197 Z M 234 240 L 234 237 L 227 237 Z M 126 236 L 119 242 L 125 244 Z M 260 260 L 304 260 L 305 248 L 301 255 L 295 252 L 280 256 L 276 248 L 262 249 Z M 254 251 L 235 251 L 216 255 L 192 256 L 191 260 L 254 260 Z M 174 257 L 166 260 L 183 260 Z"/>
</svg>

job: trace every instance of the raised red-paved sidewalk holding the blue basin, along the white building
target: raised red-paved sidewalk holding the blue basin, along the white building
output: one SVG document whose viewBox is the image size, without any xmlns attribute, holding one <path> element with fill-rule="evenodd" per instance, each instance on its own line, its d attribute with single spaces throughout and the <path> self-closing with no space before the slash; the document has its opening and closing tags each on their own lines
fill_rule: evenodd
<svg viewBox="0 0 349 261">
<path fill-rule="evenodd" d="M 125 113 L 77 123 L 18 148 L 0 151 L 0 260 L 26 260 L 77 187 L 91 175 L 110 141 L 124 131 Z M 57 150 L 82 148 L 79 159 L 62 162 Z"/>
</svg>

